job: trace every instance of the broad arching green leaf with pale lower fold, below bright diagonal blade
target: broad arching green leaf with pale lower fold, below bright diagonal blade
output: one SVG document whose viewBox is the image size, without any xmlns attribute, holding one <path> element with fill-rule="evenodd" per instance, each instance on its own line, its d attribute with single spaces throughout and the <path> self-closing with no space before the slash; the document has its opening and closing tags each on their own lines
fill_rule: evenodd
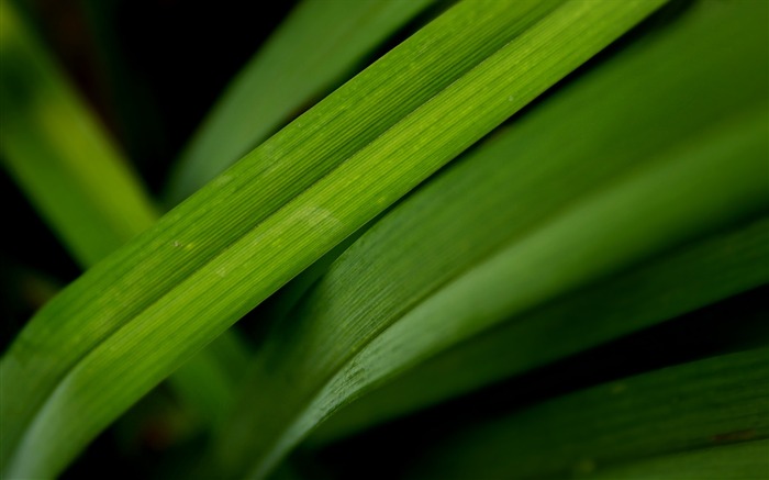
<svg viewBox="0 0 769 480">
<path fill-rule="evenodd" d="M 766 212 L 766 32 L 754 8 L 707 5 L 643 38 L 367 232 L 268 341 L 222 434 L 222 468 L 255 461 L 259 476 L 400 370 Z"/>
</svg>

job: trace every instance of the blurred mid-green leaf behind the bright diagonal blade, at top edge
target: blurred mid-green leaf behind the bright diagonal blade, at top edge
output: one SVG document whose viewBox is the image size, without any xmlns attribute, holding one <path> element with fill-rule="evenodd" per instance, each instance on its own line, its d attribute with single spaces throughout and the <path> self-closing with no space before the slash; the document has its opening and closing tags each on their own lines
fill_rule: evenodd
<svg viewBox="0 0 769 480">
<path fill-rule="evenodd" d="M 182 153 L 178 203 L 231 166 L 435 0 L 304 0 L 243 68 Z"/>
</svg>

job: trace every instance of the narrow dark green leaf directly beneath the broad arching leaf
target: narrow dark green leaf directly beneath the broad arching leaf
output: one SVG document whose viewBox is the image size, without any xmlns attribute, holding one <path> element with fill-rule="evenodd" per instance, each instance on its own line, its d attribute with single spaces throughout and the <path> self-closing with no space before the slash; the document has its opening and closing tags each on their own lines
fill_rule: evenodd
<svg viewBox="0 0 769 480">
<path fill-rule="evenodd" d="M 769 265 L 768 219 L 684 245 L 466 338 L 342 409 L 309 442 L 348 436 L 769 283 L 769 271 L 757 265 Z"/>
</svg>

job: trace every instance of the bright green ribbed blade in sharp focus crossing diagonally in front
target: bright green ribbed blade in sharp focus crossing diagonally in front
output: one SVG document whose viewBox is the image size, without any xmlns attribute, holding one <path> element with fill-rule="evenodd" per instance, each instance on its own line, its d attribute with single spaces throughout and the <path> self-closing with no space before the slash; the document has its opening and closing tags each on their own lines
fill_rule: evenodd
<svg viewBox="0 0 769 480">
<path fill-rule="evenodd" d="M 7 473 L 59 472 L 193 353 L 662 3 L 466 1 L 375 63 L 30 322 L 0 366 Z"/>
</svg>

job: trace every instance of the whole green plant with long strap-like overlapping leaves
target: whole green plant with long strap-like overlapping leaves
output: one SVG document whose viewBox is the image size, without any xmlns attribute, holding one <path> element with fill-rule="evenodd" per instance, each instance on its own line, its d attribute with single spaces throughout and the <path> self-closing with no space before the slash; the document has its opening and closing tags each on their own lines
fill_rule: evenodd
<svg viewBox="0 0 769 480">
<path fill-rule="evenodd" d="M 449 3 L 297 5 L 161 216 L 0 3 L 3 164 L 87 268 L 3 355 L 4 477 L 60 475 L 115 421 L 135 437 L 142 404 L 171 437 L 143 476 L 769 467 L 767 4 Z"/>
</svg>

